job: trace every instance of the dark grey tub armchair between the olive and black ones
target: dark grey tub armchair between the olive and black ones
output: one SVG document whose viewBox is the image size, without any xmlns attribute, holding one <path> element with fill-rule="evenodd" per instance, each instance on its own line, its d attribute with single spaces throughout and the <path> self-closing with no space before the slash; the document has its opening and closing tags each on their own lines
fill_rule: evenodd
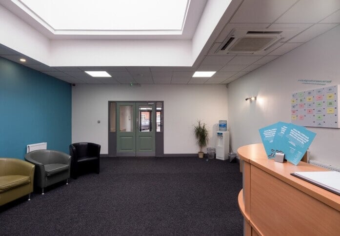
<svg viewBox="0 0 340 236">
<path fill-rule="evenodd" d="M 70 177 L 71 156 L 66 153 L 53 150 L 36 150 L 25 155 L 25 160 L 36 166 L 34 185 L 44 188 Z"/>
</svg>

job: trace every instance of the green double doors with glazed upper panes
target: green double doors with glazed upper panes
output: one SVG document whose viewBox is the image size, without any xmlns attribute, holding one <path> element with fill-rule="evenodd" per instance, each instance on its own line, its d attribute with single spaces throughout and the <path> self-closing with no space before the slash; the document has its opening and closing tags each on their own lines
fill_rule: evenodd
<svg viewBox="0 0 340 236">
<path fill-rule="evenodd" d="M 117 102 L 117 157 L 155 157 L 155 103 Z"/>
</svg>

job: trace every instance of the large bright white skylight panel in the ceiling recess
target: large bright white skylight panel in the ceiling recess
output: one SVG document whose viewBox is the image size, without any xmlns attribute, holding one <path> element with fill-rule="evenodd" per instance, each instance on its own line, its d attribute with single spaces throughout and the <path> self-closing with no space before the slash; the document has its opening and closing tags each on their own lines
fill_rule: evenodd
<svg viewBox="0 0 340 236">
<path fill-rule="evenodd" d="M 20 0 L 55 30 L 181 30 L 189 0 Z"/>
</svg>

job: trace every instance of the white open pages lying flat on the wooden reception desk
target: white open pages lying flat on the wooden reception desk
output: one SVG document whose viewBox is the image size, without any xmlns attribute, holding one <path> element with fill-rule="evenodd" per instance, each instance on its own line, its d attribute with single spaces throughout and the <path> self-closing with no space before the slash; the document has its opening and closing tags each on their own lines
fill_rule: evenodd
<svg viewBox="0 0 340 236">
<path fill-rule="evenodd" d="M 340 195 L 340 172 L 338 171 L 294 172 L 291 175 Z"/>
</svg>

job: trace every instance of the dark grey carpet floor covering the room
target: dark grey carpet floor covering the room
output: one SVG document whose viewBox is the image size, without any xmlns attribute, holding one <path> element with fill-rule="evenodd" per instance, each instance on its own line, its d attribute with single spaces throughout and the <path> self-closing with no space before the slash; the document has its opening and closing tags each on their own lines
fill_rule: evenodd
<svg viewBox="0 0 340 236">
<path fill-rule="evenodd" d="M 237 163 L 105 157 L 100 175 L 0 208 L 0 235 L 242 235 Z"/>
</svg>

